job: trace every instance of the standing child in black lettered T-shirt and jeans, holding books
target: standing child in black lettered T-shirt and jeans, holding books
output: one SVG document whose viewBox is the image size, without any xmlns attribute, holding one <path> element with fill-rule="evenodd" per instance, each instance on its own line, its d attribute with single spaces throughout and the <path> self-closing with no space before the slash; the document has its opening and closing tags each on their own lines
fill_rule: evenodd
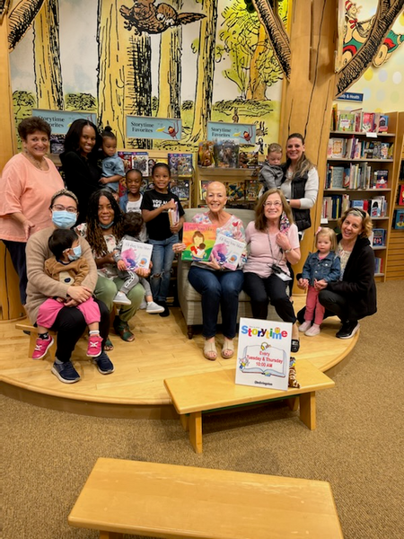
<svg viewBox="0 0 404 539">
<path fill-rule="evenodd" d="M 166 163 L 155 163 L 152 169 L 154 189 L 145 191 L 142 200 L 142 215 L 145 219 L 149 243 L 153 245 L 151 285 L 156 303 L 164 307 L 160 316 L 169 316 L 167 295 L 170 285 L 171 266 L 174 260 L 172 245 L 179 243 L 178 233 L 184 222 L 184 210 L 180 199 L 169 192 L 170 167 Z M 172 222 L 169 216 L 178 215 Z"/>
</svg>

